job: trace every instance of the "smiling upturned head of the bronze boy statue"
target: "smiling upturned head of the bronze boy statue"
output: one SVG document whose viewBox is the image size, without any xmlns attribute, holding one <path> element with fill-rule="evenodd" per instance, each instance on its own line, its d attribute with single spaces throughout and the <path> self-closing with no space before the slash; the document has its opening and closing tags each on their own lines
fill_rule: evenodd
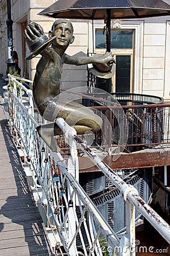
<svg viewBox="0 0 170 256">
<path fill-rule="evenodd" d="M 59 19 L 53 23 L 52 30 L 49 31 L 49 38 L 56 36 L 53 46 L 67 48 L 74 42 L 73 25 L 67 19 Z"/>
</svg>

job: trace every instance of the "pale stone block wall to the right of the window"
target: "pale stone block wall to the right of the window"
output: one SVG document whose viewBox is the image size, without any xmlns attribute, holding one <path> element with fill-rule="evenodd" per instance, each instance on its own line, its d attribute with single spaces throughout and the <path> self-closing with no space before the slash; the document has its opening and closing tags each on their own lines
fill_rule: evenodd
<svg viewBox="0 0 170 256">
<path fill-rule="evenodd" d="M 170 17 L 145 19 L 142 93 L 169 101 Z"/>
</svg>

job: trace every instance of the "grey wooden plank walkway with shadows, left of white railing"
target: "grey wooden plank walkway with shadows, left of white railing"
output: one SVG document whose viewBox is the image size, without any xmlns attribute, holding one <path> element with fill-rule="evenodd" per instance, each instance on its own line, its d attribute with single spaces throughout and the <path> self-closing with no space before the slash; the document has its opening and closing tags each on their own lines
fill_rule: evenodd
<svg viewBox="0 0 170 256">
<path fill-rule="evenodd" d="M 0 105 L 0 255 L 54 255 Z"/>
</svg>

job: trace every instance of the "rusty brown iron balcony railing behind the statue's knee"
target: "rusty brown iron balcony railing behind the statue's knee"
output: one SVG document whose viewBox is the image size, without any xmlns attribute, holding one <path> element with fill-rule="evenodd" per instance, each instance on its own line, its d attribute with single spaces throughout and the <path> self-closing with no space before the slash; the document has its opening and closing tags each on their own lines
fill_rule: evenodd
<svg viewBox="0 0 170 256">
<path fill-rule="evenodd" d="M 100 131 L 96 134 L 96 143 L 100 146 L 114 147 L 120 141 L 120 123 L 126 117 L 126 123 L 121 127 L 122 134 L 127 134 L 125 148 L 128 151 L 137 151 L 155 144 L 169 143 L 169 104 L 163 104 L 161 97 L 141 94 L 116 93 L 116 98 L 111 94 L 93 93 L 91 98 L 84 95 L 84 104 L 91 106 L 97 113 L 102 113 L 112 124 L 108 127 L 107 136 Z M 95 97 L 98 100 L 95 100 Z M 111 104 L 108 106 L 108 102 Z M 142 102 L 143 101 L 143 102 Z M 122 105 L 118 104 L 119 102 Z M 147 104 L 146 104 L 147 103 Z M 140 105 L 139 105 L 140 104 Z M 122 110 L 124 113 L 122 113 Z"/>
</svg>

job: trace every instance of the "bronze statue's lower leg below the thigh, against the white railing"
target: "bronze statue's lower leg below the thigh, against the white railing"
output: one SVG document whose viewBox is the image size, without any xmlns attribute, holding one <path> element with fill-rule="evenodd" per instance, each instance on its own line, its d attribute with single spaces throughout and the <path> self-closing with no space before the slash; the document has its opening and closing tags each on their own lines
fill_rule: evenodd
<svg viewBox="0 0 170 256">
<path fill-rule="evenodd" d="M 36 129 L 40 137 L 48 145 L 50 150 L 52 150 L 53 152 L 58 152 L 60 151 L 60 148 L 58 147 L 58 144 L 54 139 L 54 131 L 56 130 L 57 127 L 54 127 L 54 126 L 57 126 L 57 125 L 55 125 L 54 123 L 49 123 L 48 125 L 40 125 Z M 61 130 L 59 128 L 58 128 L 58 134 L 61 134 Z"/>
</svg>

